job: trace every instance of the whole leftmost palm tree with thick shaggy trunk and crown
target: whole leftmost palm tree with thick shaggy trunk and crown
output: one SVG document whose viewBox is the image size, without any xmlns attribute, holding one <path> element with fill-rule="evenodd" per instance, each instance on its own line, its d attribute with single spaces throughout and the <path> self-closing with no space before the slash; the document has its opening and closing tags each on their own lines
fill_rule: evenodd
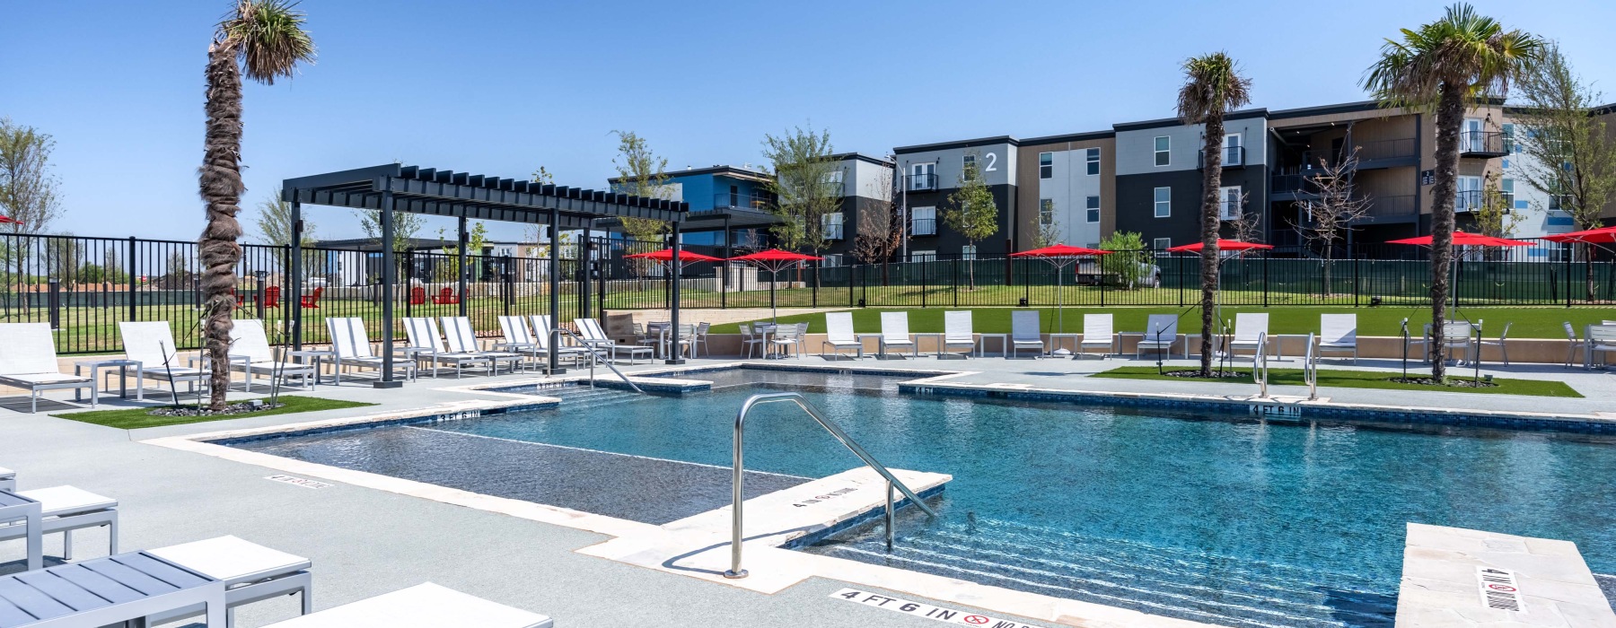
<svg viewBox="0 0 1616 628">
<path fill-rule="evenodd" d="M 236 307 L 236 262 L 241 260 L 241 74 L 275 84 L 297 63 L 314 63 L 314 40 L 302 31 L 296 2 L 238 0 L 218 23 L 207 50 L 207 137 L 197 170 L 207 228 L 197 239 L 202 262 L 204 349 L 212 358 L 212 408 L 225 408 L 229 387 L 229 329 Z"/>
</svg>

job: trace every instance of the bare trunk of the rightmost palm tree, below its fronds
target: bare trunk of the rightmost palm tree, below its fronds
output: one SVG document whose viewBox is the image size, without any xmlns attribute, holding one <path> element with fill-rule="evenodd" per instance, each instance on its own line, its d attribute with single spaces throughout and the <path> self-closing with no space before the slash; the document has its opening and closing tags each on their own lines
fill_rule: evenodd
<svg viewBox="0 0 1616 628">
<path fill-rule="evenodd" d="M 1459 186 L 1459 129 L 1464 126 L 1464 86 L 1443 84 L 1437 103 L 1437 184 L 1430 192 L 1430 376 L 1448 376 L 1443 363 L 1443 323 L 1448 320 L 1448 270 L 1453 266 L 1453 202 Z"/>
</svg>

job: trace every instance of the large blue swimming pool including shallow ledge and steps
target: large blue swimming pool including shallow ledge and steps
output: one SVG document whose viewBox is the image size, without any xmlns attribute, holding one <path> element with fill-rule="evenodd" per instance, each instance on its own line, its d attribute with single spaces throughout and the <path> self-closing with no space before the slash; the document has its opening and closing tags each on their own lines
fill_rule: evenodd
<svg viewBox="0 0 1616 628">
<path fill-rule="evenodd" d="M 1616 570 L 1611 436 L 908 396 L 895 376 L 682 378 L 714 389 L 545 389 L 559 410 L 234 446 L 666 523 L 726 504 L 735 410 L 789 389 L 881 462 L 953 475 L 941 517 L 907 510 L 892 554 L 874 525 L 814 554 L 1239 626 L 1390 625 L 1406 521 L 1569 539 Z M 858 465 L 793 412 L 748 420 L 748 492 Z M 535 463 L 564 486 L 528 486 Z M 642 512 L 648 489 L 679 504 Z"/>
</svg>

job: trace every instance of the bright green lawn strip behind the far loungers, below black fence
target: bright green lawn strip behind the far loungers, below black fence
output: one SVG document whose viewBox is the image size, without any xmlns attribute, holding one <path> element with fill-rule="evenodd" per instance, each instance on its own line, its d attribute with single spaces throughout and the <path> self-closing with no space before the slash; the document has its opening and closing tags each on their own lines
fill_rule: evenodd
<svg viewBox="0 0 1616 628">
<path fill-rule="evenodd" d="M 949 307 L 929 307 L 929 308 L 855 308 L 853 312 L 853 329 L 861 333 L 874 333 L 881 329 L 881 312 L 908 312 L 910 313 L 910 331 L 911 333 L 941 333 L 942 331 L 942 313 L 952 310 Z M 971 324 L 978 333 L 1010 333 L 1010 312 L 1015 308 L 995 307 L 995 308 L 965 308 L 971 312 Z M 1039 312 L 1039 320 L 1042 321 L 1044 333 L 1057 333 L 1055 329 L 1055 308 L 1036 308 Z M 1083 331 L 1083 315 L 1084 313 L 1112 313 L 1115 331 L 1143 331 L 1146 318 L 1152 313 L 1175 313 L 1181 315 L 1178 318 L 1178 333 L 1181 334 L 1199 334 L 1201 333 L 1201 310 L 1199 308 L 1180 308 L 1180 307 L 1067 307 L 1065 308 L 1065 326 L 1062 333 L 1081 333 Z M 1265 312 L 1269 315 L 1269 333 L 1272 334 L 1306 334 L 1319 331 L 1319 315 L 1320 313 L 1356 313 L 1357 315 L 1357 333 L 1361 336 L 1398 336 L 1401 334 L 1401 326 L 1398 324 L 1403 318 L 1409 320 L 1409 331 L 1414 334 L 1420 333 L 1420 324 L 1430 321 L 1429 307 L 1320 307 L 1320 305 L 1275 305 L 1275 307 L 1225 307 L 1222 316 L 1233 320 L 1235 313 L 1239 312 Z M 1514 323 L 1509 328 L 1509 337 L 1556 337 L 1564 339 L 1566 331 L 1563 328 L 1564 321 L 1582 334 L 1582 326 L 1587 323 L 1600 323 L 1601 320 L 1616 318 L 1616 308 L 1611 307 L 1466 307 L 1459 310 L 1450 310 L 1451 318 L 1464 320 L 1480 320 L 1483 321 L 1482 333 L 1487 337 L 1496 337 L 1503 331 L 1504 323 Z M 763 318 L 768 321 L 768 318 Z M 781 323 L 808 323 L 810 333 L 824 333 L 824 315 L 795 315 L 781 316 Z M 713 328 L 716 334 L 734 334 L 739 333 L 737 324 L 718 324 Z"/>
</svg>

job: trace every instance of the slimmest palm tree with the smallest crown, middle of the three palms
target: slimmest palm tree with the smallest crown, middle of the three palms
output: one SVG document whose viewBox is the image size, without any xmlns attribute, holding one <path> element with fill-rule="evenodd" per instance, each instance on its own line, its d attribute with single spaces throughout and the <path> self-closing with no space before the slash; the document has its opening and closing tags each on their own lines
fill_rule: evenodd
<svg viewBox="0 0 1616 628">
<path fill-rule="evenodd" d="M 1201 163 L 1201 376 L 1212 376 L 1212 312 L 1217 307 L 1218 187 L 1223 186 L 1223 111 L 1251 103 L 1251 79 L 1225 52 L 1185 61 L 1178 118 L 1204 124 Z"/>
</svg>

